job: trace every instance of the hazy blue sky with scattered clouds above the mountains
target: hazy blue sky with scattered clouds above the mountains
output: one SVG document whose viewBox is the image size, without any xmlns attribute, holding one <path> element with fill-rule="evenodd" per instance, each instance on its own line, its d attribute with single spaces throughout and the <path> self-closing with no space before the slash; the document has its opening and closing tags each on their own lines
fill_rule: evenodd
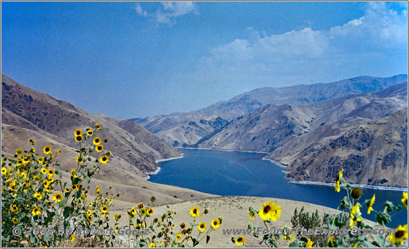
<svg viewBox="0 0 409 249">
<path fill-rule="evenodd" d="M 405 2 L 2 2 L 2 73 L 119 119 L 407 73 Z"/>
</svg>

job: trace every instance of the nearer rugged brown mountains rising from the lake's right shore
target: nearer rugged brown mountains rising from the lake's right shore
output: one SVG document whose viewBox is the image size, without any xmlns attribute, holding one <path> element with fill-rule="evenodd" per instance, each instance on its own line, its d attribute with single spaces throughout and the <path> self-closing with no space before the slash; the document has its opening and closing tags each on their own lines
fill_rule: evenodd
<svg viewBox="0 0 409 249">
<path fill-rule="evenodd" d="M 407 188 L 407 82 L 315 104 L 265 105 L 192 147 L 270 152 L 288 177 Z M 385 141 L 385 143 L 383 143 Z M 377 160 L 374 160 L 376 157 Z"/>
</svg>

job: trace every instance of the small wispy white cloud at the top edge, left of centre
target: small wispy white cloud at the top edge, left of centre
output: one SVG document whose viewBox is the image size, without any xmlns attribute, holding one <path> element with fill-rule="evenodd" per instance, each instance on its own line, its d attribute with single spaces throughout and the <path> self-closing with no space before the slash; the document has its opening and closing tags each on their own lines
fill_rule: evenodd
<svg viewBox="0 0 409 249">
<path fill-rule="evenodd" d="M 197 8 L 193 2 L 162 2 L 162 8 L 155 13 L 144 11 L 140 4 L 136 4 L 135 10 L 138 15 L 149 17 L 156 24 L 167 24 L 172 26 L 176 24 L 176 18 L 191 12 L 198 14 Z"/>
</svg>

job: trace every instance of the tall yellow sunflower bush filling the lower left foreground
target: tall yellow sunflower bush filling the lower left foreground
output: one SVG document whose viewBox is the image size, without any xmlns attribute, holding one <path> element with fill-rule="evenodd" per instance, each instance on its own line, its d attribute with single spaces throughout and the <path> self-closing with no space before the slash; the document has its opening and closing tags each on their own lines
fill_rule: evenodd
<svg viewBox="0 0 409 249">
<path fill-rule="evenodd" d="M 96 136 L 100 125 L 87 128 L 85 133 L 77 129 L 74 139 L 79 149 L 76 157 L 76 167 L 71 169 L 71 175 L 64 180 L 61 165 L 53 163 L 60 155 L 60 149 L 53 153 L 51 146 L 44 146 L 42 151 L 36 152 L 35 141 L 30 139 L 31 148 L 17 149 L 14 157 L 2 154 L 2 246 L 113 246 L 118 236 L 120 214 L 113 215 L 115 228 L 109 227 L 109 210 L 114 196 L 108 191 L 103 193 L 99 186 L 95 191 L 87 184 L 100 171 L 103 164 L 109 162 L 110 151 L 105 151 L 102 140 Z M 92 157 L 93 156 L 93 157 Z M 69 180 L 68 180 L 69 177 Z M 111 190 L 111 187 L 109 187 Z M 95 196 L 92 199 L 90 195 Z M 116 194 L 117 197 L 120 193 Z M 196 223 L 199 209 L 194 207 L 190 214 L 193 222 L 187 227 L 185 223 L 179 225 L 178 231 L 173 231 L 175 212 L 168 210 L 160 219 L 153 218 L 155 197 L 151 197 L 151 206 L 145 207 L 139 203 L 137 208 L 128 210 L 131 229 L 150 229 L 151 233 L 128 235 L 129 246 L 195 246 L 222 224 L 222 217 L 215 218 L 207 227 L 205 222 Z M 169 207 L 168 207 L 169 208 Z M 203 212 L 209 213 L 208 209 Z M 13 229 L 17 227 L 22 232 L 15 236 Z M 40 228 L 39 233 L 31 232 L 25 235 L 26 229 Z M 197 236 L 192 236 L 194 228 L 199 230 Z M 82 231 L 106 231 L 112 233 L 73 233 L 77 228 Z M 59 231 L 64 233 L 59 233 Z M 161 241 L 159 241 L 161 240 Z"/>
</svg>

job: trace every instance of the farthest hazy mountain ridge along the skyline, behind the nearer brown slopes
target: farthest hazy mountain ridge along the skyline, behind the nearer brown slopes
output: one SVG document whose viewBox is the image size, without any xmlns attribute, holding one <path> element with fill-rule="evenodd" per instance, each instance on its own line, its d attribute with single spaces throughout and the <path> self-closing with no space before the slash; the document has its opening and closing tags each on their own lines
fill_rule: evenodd
<svg viewBox="0 0 409 249">
<path fill-rule="evenodd" d="M 133 120 L 174 146 L 194 145 L 223 124 L 267 104 L 312 104 L 350 94 L 376 92 L 403 81 L 407 81 L 407 75 L 388 78 L 359 76 L 332 83 L 263 87 L 195 111 Z M 199 123 L 200 120 L 205 122 Z"/>
</svg>

